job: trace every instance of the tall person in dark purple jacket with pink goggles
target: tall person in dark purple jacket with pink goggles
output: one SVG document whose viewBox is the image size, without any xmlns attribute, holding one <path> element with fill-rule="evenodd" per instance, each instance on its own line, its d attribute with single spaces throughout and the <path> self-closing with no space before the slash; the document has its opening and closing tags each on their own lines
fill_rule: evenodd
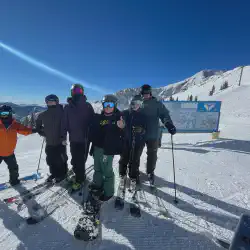
<svg viewBox="0 0 250 250">
<path fill-rule="evenodd" d="M 62 122 L 62 138 L 69 133 L 71 165 L 75 173 L 72 189 L 81 188 L 85 180 L 85 163 L 89 151 L 89 128 L 93 121 L 94 109 L 84 95 L 84 88 L 81 84 L 74 84 L 71 87 L 71 97 L 64 107 Z M 66 144 L 66 142 L 65 142 Z"/>
</svg>

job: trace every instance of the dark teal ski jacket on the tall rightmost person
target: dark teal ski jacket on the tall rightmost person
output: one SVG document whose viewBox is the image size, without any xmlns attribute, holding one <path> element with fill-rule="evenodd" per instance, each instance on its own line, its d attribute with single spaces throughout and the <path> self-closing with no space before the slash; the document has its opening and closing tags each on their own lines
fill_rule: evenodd
<svg viewBox="0 0 250 250">
<path fill-rule="evenodd" d="M 147 119 L 147 140 L 159 139 L 159 119 L 165 127 L 173 124 L 168 109 L 155 97 L 143 101 L 142 112 L 146 115 Z"/>
</svg>

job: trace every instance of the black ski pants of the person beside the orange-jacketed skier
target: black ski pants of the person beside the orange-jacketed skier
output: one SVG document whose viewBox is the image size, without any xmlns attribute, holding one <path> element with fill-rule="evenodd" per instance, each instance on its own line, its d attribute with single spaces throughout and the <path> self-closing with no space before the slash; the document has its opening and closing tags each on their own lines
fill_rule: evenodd
<svg viewBox="0 0 250 250">
<path fill-rule="evenodd" d="M 45 153 L 50 174 L 54 178 L 64 177 L 68 172 L 66 146 L 62 144 L 56 146 L 46 145 Z"/>
</svg>

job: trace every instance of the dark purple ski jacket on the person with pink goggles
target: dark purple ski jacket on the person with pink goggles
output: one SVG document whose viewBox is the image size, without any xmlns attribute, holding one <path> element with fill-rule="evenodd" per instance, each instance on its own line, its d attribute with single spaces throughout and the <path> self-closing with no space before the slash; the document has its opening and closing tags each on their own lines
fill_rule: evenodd
<svg viewBox="0 0 250 250">
<path fill-rule="evenodd" d="M 85 96 L 81 96 L 78 102 L 68 98 L 68 104 L 64 107 L 62 138 L 66 138 L 68 132 L 70 142 L 87 143 L 94 109 L 86 100 Z"/>
</svg>

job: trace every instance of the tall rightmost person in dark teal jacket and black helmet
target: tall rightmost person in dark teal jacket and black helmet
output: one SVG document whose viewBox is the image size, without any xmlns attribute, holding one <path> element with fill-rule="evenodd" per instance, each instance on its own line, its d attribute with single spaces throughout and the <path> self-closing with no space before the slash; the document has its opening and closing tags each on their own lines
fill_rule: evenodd
<svg viewBox="0 0 250 250">
<path fill-rule="evenodd" d="M 169 111 L 164 104 L 152 96 L 150 85 L 141 87 L 143 97 L 143 113 L 147 117 L 147 174 L 150 183 L 154 184 L 154 170 L 157 161 L 157 150 L 159 146 L 159 119 L 168 129 L 171 135 L 176 133 L 176 128 L 169 116 Z"/>
</svg>

